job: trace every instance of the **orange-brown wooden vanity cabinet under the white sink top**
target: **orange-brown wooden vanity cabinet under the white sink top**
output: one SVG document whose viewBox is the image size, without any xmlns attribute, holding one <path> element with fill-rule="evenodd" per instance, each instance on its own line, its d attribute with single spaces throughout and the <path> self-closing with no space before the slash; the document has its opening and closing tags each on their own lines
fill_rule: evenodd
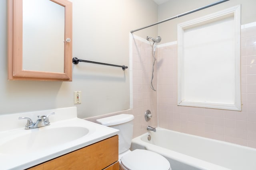
<svg viewBox="0 0 256 170">
<path fill-rule="evenodd" d="M 119 170 L 118 135 L 28 168 L 28 170 Z"/>
</svg>

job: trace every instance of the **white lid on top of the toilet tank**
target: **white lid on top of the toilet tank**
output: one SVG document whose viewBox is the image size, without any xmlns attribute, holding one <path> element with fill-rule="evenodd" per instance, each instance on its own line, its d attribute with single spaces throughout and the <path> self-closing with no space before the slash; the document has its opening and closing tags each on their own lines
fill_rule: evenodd
<svg viewBox="0 0 256 170">
<path fill-rule="evenodd" d="M 114 116 L 110 116 L 110 117 L 104 117 L 101 119 L 97 119 L 96 121 L 105 126 L 113 126 L 113 125 L 119 125 L 122 123 L 126 123 L 133 119 L 134 119 L 134 115 L 120 114 L 120 115 L 114 115 Z"/>
</svg>

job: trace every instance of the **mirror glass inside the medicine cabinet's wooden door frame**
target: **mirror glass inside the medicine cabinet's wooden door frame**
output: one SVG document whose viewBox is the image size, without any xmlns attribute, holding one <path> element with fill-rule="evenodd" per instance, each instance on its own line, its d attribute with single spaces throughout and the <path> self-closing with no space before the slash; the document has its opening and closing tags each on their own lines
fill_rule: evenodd
<svg viewBox="0 0 256 170">
<path fill-rule="evenodd" d="M 23 0 L 22 5 L 22 69 L 63 73 L 64 6 L 49 0 Z M 31 64 L 35 54 L 37 62 Z M 48 62 L 51 59 L 56 62 Z"/>
</svg>

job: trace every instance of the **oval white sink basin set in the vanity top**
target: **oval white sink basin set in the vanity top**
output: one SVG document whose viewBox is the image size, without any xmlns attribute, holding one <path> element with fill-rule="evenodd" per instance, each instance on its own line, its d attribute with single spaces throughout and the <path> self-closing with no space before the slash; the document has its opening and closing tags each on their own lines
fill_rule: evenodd
<svg viewBox="0 0 256 170">
<path fill-rule="evenodd" d="M 25 130 L 24 135 L 13 138 L 0 145 L 3 154 L 16 154 L 21 152 L 34 152 L 35 150 L 50 149 L 74 141 L 88 134 L 85 127 L 58 127 L 58 128 L 36 128 Z"/>
</svg>

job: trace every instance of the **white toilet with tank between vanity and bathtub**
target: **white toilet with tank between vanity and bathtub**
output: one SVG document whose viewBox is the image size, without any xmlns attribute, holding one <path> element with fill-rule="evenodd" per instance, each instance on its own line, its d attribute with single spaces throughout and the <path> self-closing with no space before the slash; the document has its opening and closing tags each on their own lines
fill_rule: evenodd
<svg viewBox="0 0 256 170">
<path fill-rule="evenodd" d="M 121 170 L 171 170 L 164 156 L 143 149 L 131 151 L 133 133 L 133 115 L 120 114 L 96 121 L 102 125 L 118 129 L 119 162 Z"/>
</svg>

